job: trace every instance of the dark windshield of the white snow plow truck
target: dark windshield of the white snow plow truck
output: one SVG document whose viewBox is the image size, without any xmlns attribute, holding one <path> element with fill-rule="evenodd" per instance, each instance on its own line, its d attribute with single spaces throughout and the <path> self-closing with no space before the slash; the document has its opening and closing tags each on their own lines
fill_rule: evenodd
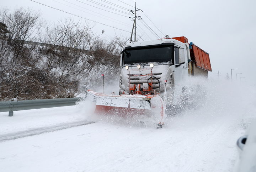
<svg viewBox="0 0 256 172">
<path fill-rule="evenodd" d="M 172 63 L 174 47 L 170 45 L 129 48 L 124 51 L 124 64 L 169 62 Z"/>
</svg>

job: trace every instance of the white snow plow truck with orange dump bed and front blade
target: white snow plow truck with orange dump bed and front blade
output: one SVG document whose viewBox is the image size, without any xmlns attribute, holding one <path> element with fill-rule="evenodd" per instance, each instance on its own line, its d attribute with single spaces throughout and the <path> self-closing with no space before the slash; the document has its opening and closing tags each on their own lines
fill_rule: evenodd
<svg viewBox="0 0 256 172">
<path fill-rule="evenodd" d="M 207 78 L 208 71 L 212 71 L 207 52 L 188 43 L 185 36 L 168 35 L 158 40 L 130 42 L 121 52 L 120 67 L 118 95 L 87 90 L 86 97 L 96 104 L 95 112 L 153 116 L 157 128 L 164 125 L 175 95 L 186 91 L 185 81 L 192 76 Z"/>
</svg>

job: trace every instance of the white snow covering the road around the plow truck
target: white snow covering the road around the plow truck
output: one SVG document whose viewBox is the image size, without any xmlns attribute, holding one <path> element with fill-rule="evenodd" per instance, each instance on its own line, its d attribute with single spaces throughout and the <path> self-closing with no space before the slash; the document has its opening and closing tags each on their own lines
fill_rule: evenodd
<svg viewBox="0 0 256 172">
<path fill-rule="evenodd" d="M 255 86 L 225 81 L 206 86 L 207 102 L 167 117 L 160 130 L 150 120 L 142 125 L 136 118 L 94 115 L 87 101 L 14 111 L 12 117 L 0 113 L 0 140 L 10 136 L 0 141 L 0 171 L 234 171 L 236 141 L 255 119 Z M 80 125 L 87 121 L 95 123 Z M 42 133 L 11 139 L 36 129 Z"/>
</svg>

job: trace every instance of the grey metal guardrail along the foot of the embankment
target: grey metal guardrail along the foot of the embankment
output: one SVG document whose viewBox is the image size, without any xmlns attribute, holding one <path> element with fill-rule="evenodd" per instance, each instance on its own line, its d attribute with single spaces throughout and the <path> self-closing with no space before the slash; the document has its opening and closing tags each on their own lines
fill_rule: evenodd
<svg viewBox="0 0 256 172">
<path fill-rule="evenodd" d="M 0 102 L 0 112 L 9 111 L 9 116 L 13 116 L 13 111 L 30 110 L 41 108 L 53 108 L 62 106 L 72 106 L 81 101 L 81 97 L 75 98 L 54 98 L 54 99 L 36 99 L 25 101 L 6 101 Z"/>
</svg>

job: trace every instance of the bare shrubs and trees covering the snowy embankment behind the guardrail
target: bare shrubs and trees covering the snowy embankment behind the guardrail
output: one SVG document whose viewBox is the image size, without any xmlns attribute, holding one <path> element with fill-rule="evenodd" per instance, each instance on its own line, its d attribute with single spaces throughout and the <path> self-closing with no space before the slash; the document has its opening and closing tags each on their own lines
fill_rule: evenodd
<svg viewBox="0 0 256 172">
<path fill-rule="evenodd" d="M 102 40 L 104 31 L 96 35 L 71 19 L 42 31 L 39 17 L 24 8 L 0 11 L 0 101 L 75 97 L 80 82 L 92 88 L 101 85 L 100 74 L 109 82 L 119 78 L 127 39 Z"/>
</svg>

